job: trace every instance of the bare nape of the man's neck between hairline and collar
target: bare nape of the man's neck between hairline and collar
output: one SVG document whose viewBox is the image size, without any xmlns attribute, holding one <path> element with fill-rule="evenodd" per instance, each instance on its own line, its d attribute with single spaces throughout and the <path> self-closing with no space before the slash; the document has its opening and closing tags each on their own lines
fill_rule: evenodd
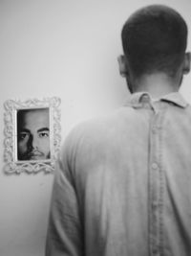
<svg viewBox="0 0 191 256">
<path fill-rule="evenodd" d="M 134 92 L 148 92 L 153 98 L 160 97 L 178 92 L 180 88 L 180 81 L 170 79 L 165 74 L 153 74 L 141 77 L 136 81 Z"/>
</svg>

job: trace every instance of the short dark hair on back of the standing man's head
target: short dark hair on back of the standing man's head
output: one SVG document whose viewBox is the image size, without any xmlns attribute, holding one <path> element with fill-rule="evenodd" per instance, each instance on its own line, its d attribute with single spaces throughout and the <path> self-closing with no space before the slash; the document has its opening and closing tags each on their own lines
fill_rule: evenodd
<svg viewBox="0 0 191 256">
<path fill-rule="evenodd" d="M 134 12 L 121 32 L 124 55 L 133 74 L 176 75 L 187 44 L 187 25 L 179 12 L 151 5 Z"/>
</svg>

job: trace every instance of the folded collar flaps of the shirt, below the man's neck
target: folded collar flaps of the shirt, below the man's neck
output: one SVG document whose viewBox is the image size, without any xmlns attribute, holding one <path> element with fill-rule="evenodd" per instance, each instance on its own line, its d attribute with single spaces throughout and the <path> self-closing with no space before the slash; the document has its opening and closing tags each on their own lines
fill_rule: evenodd
<svg viewBox="0 0 191 256">
<path fill-rule="evenodd" d="M 138 107 L 138 106 L 141 106 L 142 102 L 145 102 L 146 99 L 148 102 L 152 101 L 152 97 L 149 95 L 148 92 L 133 93 L 130 97 L 130 104 L 135 107 Z M 174 105 L 178 105 L 183 108 L 185 108 L 188 105 L 187 102 L 180 95 L 180 92 L 173 92 L 173 93 L 164 95 L 161 98 L 159 98 L 159 101 L 172 103 Z"/>
</svg>

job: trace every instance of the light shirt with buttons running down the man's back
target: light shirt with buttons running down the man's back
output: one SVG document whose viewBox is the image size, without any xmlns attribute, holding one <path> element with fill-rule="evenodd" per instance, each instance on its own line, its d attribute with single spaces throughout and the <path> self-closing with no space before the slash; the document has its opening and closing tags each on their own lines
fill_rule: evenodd
<svg viewBox="0 0 191 256">
<path fill-rule="evenodd" d="M 67 137 L 47 256 L 191 255 L 191 106 L 150 99 L 133 94 Z"/>
</svg>

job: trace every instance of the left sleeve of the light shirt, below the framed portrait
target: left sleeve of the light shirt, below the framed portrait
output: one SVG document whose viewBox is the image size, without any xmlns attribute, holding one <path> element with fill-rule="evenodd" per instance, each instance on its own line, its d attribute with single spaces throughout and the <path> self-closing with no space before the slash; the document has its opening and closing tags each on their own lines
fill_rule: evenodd
<svg viewBox="0 0 191 256">
<path fill-rule="evenodd" d="M 71 170 L 74 165 L 70 163 L 73 157 L 69 157 L 71 145 L 65 143 L 64 146 L 55 168 L 46 256 L 84 255 L 82 223 Z"/>
</svg>

